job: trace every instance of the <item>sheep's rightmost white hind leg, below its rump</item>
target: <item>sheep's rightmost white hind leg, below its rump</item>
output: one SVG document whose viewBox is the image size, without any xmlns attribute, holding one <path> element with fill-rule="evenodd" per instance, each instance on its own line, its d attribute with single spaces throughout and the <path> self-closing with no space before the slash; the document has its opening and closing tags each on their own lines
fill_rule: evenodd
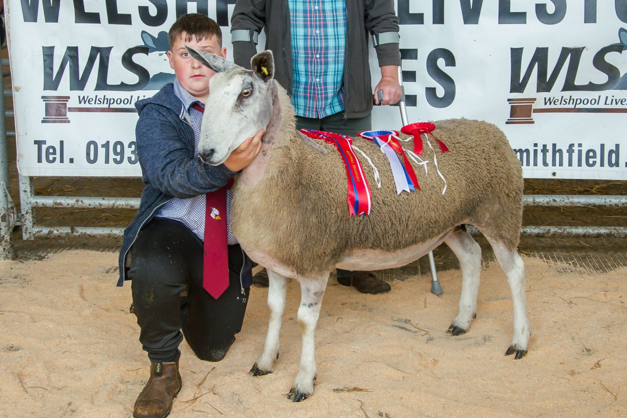
<svg viewBox="0 0 627 418">
<path fill-rule="evenodd" d="M 512 305 L 514 305 L 514 337 L 512 345 L 507 348 L 505 355 L 516 354 L 514 358 L 518 360 L 527 354 L 527 344 L 529 343 L 530 326 L 527 319 L 527 308 L 525 302 L 525 264 L 516 249 L 507 249 L 503 244 L 492 241 L 486 237 L 494 254 L 497 256 L 498 264 L 507 276 L 507 283 L 512 291 Z"/>
</svg>

